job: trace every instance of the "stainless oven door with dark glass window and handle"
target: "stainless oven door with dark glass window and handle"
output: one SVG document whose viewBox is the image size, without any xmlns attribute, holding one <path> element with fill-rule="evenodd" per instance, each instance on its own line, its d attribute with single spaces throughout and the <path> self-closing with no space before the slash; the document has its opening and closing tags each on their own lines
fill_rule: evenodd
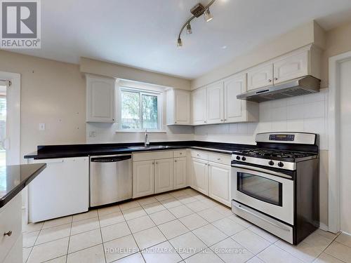
<svg viewBox="0 0 351 263">
<path fill-rule="evenodd" d="M 234 201 L 293 225 L 293 178 L 264 168 L 232 164 Z"/>
</svg>

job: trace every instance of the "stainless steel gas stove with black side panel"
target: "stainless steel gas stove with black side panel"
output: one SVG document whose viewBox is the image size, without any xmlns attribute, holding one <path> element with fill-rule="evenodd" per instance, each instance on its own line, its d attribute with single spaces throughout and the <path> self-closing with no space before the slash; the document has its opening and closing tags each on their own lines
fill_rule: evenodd
<svg viewBox="0 0 351 263">
<path fill-rule="evenodd" d="M 318 135 L 258 133 L 232 154 L 232 211 L 298 244 L 319 227 Z"/>
</svg>

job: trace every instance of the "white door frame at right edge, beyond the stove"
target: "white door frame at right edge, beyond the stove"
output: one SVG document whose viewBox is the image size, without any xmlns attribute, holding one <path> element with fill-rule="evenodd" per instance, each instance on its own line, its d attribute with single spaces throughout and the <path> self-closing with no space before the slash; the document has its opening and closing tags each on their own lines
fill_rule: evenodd
<svg viewBox="0 0 351 263">
<path fill-rule="evenodd" d="M 328 230 L 340 231 L 340 63 L 351 60 L 351 51 L 329 58 L 328 101 Z M 333 176 L 332 176 L 333 175 Z"/>
</svg>

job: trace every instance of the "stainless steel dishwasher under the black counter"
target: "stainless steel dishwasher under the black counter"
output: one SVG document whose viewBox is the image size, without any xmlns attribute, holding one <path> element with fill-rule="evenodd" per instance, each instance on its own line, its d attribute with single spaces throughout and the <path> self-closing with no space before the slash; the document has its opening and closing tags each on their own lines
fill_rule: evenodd
<svg viewBox="0 0 351 263">
<path fill-rule="evenodd" d="M 132 198 L 131 154 L 91 156 L 90 206 Z"/>
</svg>

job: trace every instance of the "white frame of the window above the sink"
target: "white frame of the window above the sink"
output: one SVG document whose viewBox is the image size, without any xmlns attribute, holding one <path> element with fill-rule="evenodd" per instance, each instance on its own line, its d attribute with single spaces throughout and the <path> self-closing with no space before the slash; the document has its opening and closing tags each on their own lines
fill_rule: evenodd
<svg viewBox="0 0 351 263">
<path fill-rule="evenodd" d="M 142 107 L 142 101 L 143 101 L 143 95 L 152 95 L 157 97 L 157 128 L 156 129 L 147 129 L 147 132 L 150 133 L 159 133 L 159 132 L 164 132 L 163 130 L 163 111 L 164 111 L 164 102 L 163 102 L 163 93 L 157 91 L 157 90 L 147 90 L 143 88 L 133 88 L 133 87 L 128 87 L 128 86 L 119 86 L 118 87 L 118 104 L 117 104 L 117 112 L 118 112 L 118 132 L 135 132 L 135 133 L 140 133 L 140 132 L 145 132 L 145 129 L 126 129 L 122 128 L 122 103 L 121 103 L 121 94 L 123 91 L 126 92 L 134 92 L 134 93 L 139 93 L 140 94 L 140 102 L 139 102 L 139 107 L 140 107 L 140 126 L 143 127 L 143 107 Z"/>
</svg>

